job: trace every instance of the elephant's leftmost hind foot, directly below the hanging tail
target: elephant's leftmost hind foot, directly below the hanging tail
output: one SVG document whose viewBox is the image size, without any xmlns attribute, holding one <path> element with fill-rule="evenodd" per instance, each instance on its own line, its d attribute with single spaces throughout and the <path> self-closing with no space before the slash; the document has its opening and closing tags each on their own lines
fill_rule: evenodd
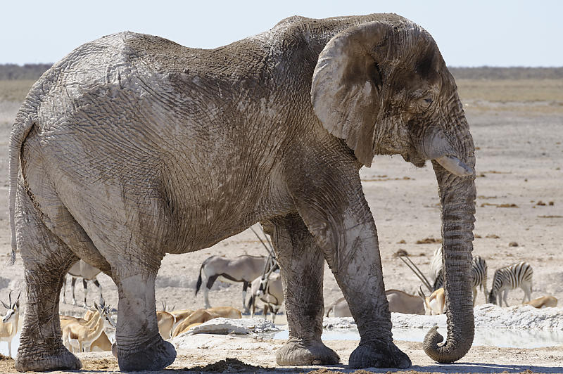
<svg viewBox="0 0 563 374">
<path fill-rule="evenodd" d="M 50 370 L 79 370 L 82 362 L 68 349 L 62 348 L 58 354 L 37 354 L 34 349 L 22 349 L 15 358 L 15 370 L 18 371 L 50 371 Z"/>
</svg>

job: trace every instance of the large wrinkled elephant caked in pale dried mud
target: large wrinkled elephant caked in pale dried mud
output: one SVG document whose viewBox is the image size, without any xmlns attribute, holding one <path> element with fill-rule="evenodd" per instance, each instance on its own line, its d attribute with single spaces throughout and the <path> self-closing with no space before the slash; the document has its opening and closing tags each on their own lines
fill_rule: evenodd
<svg viewBox="0 0 563 374">
<path fill-rule="evenodd" d="M 452 362 L 472 345 L 474 143 L 436 42 L 395 14 L 293 16 L 217 49 L 121 32 L 86 43 L 32 86 L 11 131 L 12 256 L 28 287 L 15 368 L 78 369 L 58 295 L 82 259 L 118 287 L 120 370 L 160 370 L 161 260 L 260 222 L 272 236 L 289 339 L 279 365 L 334 364 L 321 340 L 324 261 L 360 332 L 353 368 L 406 368 L 393 344 L 377 228 L 360 168 L 431 160 L 441 199 Z"/>
</svg>

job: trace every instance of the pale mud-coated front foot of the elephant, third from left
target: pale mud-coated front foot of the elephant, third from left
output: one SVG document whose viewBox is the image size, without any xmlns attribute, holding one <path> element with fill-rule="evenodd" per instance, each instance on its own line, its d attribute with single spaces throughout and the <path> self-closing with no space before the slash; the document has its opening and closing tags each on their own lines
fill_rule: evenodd
<svg viewBox="0 0 563 374">
<path fill-rule="evenodd" d="M 290 338 L 276 354 L 278 365 L 335 365 L 340 357 L 320 340 L 304 342 Z"/>
</svg>

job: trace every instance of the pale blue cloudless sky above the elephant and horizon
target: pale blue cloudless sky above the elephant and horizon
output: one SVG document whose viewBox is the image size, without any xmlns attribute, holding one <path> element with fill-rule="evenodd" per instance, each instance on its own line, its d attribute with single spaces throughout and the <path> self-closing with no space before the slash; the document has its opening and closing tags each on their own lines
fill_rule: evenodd
<svg viewBox="0 0 563 374">
<path fill-rule="evenodd" d="M 290 15 L 397 13 L 428 30 L 450 66 L 562 66 L 563 1 L 3 1 L 0 63 L 54 63 L 106 34 L 214 48 Z"/>
</svg>

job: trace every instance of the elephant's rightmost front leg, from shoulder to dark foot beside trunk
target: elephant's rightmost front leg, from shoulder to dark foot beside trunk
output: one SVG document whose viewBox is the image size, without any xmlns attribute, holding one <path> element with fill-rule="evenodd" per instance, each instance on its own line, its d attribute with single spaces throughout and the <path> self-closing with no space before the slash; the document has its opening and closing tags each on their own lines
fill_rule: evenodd
<svg viewBox="0 0 563 374">
<path fill-rule="evenodd" d="M 407 368 L 410 359 L 393 344 L 377 230 L 358 169 L 326 158 L 314 162 L 314 156 L 293 157 L 307 160 L 308 165 L 293 164 L 301 167 L 294 171 L 301 177 L 291 179 L 288 186 L 358 324 L 360 346 L 350 355 L 349 364 Z"/>
</svg>

